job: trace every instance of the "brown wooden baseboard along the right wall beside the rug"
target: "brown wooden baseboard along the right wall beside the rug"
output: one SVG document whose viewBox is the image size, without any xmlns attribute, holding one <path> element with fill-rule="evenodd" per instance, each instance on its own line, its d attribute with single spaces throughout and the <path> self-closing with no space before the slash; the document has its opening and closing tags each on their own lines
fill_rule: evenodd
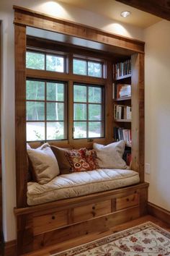
<svg viewBox="0 0 170 256">
<path fill-rule="evenodd" d="M 148 202 L 148 214 L 159 218 L 161 221 L 164 221 L 170 225 L 170 212 L 165 210 L 158 205 L 153 205 L 153 203 Z"/>
</svg>

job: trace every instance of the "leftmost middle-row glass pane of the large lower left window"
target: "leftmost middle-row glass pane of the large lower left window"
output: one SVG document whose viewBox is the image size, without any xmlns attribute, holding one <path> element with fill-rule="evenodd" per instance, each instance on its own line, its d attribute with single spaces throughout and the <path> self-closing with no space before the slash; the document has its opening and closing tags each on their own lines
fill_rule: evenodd
<svg viewBox="0 0 170 256">
<path fill-rule="evenodd" d="M 44 120 L 45 103 L 38 101 L 27 101 L 27 120 Z"/>
</svg>

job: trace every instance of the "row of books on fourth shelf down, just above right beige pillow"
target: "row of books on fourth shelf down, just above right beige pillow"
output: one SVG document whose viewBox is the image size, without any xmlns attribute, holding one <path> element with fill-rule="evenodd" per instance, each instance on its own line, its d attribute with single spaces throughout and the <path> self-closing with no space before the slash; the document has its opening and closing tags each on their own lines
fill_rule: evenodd
<svg viewBox="0 0 170 256">
<path fill-rule="evenodd" d="M 122 127 L 113 128 L 113 136 L 116 141 L 125 140 L 126 145 L 132 145 L 132 133 L 131 129 L 125 129 Z"/>
</svg>

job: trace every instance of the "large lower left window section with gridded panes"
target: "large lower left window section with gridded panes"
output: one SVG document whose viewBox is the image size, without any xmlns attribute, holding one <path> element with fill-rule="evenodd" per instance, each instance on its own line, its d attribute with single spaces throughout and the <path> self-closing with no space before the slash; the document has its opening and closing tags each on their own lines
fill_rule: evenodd
<svg viewBox="0 0 170 256">
<path fill-rule="evenodd" d="M 66 139 L 66 83 L 27 80 L 27 141 Z"/>
</svg>

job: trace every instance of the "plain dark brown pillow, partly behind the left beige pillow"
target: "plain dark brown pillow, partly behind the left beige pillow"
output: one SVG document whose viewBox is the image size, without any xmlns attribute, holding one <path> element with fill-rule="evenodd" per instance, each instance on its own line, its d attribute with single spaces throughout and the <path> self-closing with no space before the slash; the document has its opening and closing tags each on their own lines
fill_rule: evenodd
<svg viewBox="0 0 170 256">
<path fill-rule="evenodd" d="M 66 158 L 66 151 L 71 150 L 70 148 L 58 148 L 51 145 L 50 148 L 53 150 L 55 158 L 58 161 L 58 166 L 61 174 L 69 174 L 71 172 L 71 165 Z"/>
</svg>

